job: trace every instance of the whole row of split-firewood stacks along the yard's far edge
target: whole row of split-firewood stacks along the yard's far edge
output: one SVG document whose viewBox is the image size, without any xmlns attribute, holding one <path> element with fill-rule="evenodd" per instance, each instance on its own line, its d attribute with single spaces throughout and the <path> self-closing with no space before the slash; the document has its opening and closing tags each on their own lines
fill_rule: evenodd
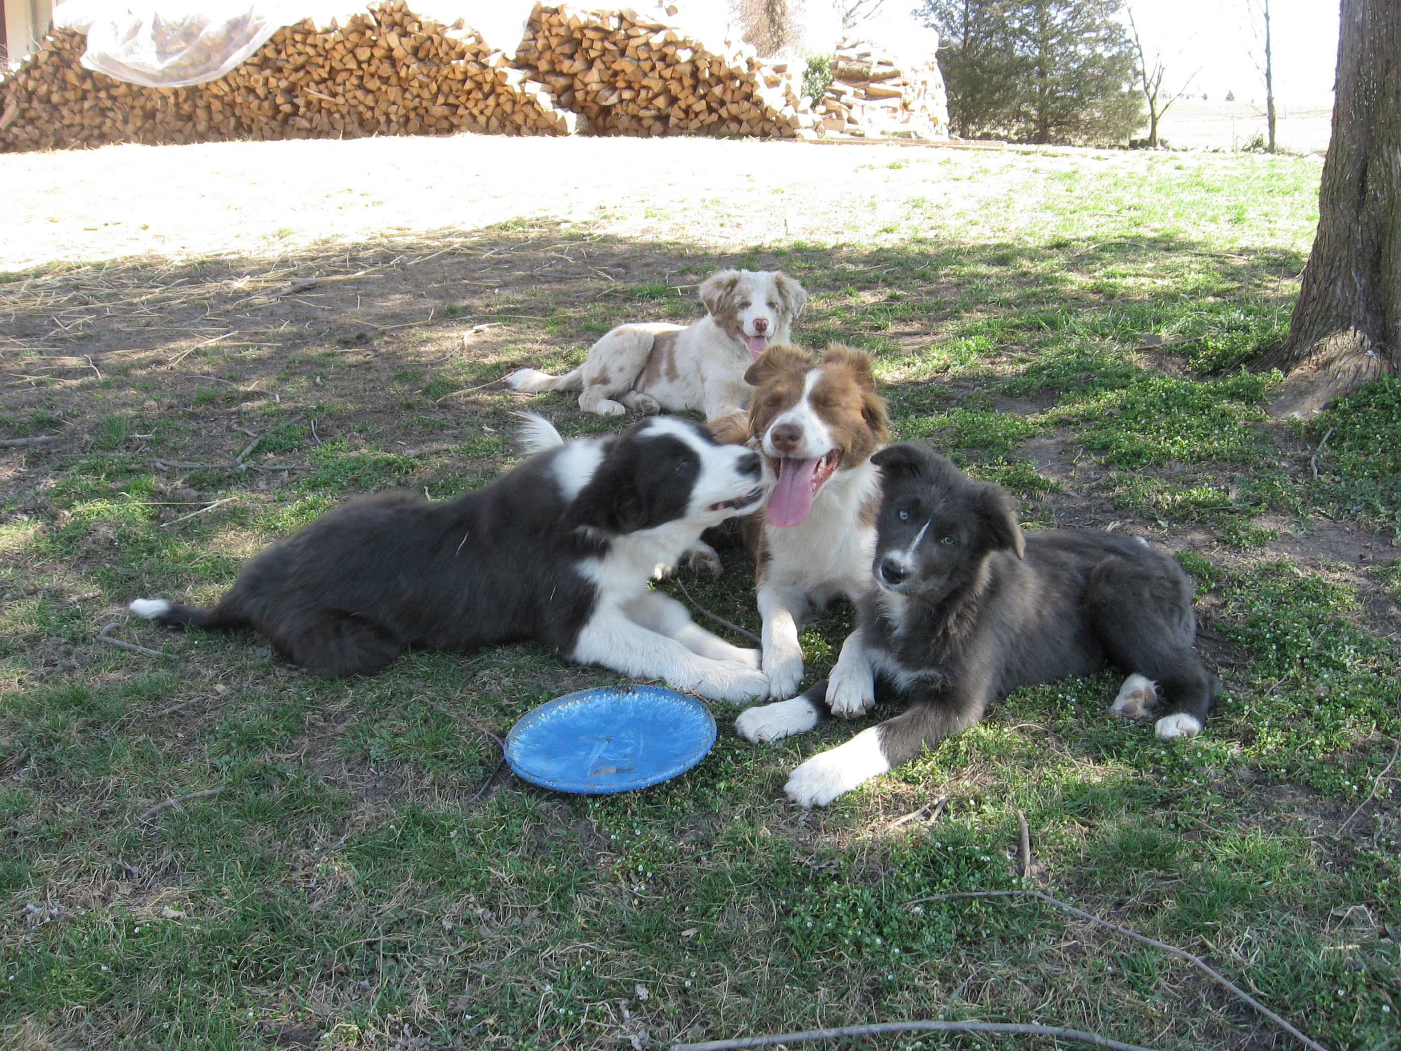
<svg viewBox="0 0 1401 1051">
<path fill-rule="evenodd" d="M 744 43 L 708 48 L 667 17 L 661 7 L 537 7 L 507 59 L 461 22 L 381 0 L 345 25 L 284 27 L 227 76 L 188 88 L 87 70 L 84 36 L 55 31 L 0 80 L 0 151 L 458 130 L 811 139 L 820 121 L 835 135 L 947 137 L 932 57 L 897 67 L 869 48 L 843 49 L 814 112 L 786 64 Z"/>
</svg>

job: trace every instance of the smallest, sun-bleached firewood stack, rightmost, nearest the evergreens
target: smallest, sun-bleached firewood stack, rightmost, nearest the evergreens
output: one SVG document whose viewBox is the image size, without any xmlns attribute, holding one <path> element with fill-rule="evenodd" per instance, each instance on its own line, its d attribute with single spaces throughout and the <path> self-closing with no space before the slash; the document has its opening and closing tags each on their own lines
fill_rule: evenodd
<svg viewBox="0 0 1401 1051">
<path fill-rule="evenodd" d="M 897 62 L 871 45 L 843 42 L 817 111 L 828 133 L 948 137 L 944 78 L 933 55 L 925 62 Z"/>
</svg>

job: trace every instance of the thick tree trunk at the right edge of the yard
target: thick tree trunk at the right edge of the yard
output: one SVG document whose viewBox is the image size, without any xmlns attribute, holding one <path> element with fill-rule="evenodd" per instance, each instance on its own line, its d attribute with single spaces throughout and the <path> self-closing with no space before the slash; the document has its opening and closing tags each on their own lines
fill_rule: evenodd
<svg viewBox="0 0 1401 1051">
<path fill-rule="evenodd" d="M 1276 415 L 1309 416 L 1401 364 L 1401 4 L 1342 0 L 1332 142 L 1318 233 L 1289 335 Z"/>
</svg>

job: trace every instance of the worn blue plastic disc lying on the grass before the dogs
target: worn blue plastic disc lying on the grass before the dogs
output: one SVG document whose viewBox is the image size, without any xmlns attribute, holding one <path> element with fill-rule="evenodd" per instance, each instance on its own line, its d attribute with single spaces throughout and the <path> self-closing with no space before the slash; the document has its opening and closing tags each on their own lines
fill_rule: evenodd
<svg viewBox="0 0 1401 1051">
<path fill-rule="evenodd" d="M 684 774 L 715 744 L 715 716 L 663 687 L 580 689 L 541 705 L 506 736 L 516 776 L 597 796 Z"/>
</svg>

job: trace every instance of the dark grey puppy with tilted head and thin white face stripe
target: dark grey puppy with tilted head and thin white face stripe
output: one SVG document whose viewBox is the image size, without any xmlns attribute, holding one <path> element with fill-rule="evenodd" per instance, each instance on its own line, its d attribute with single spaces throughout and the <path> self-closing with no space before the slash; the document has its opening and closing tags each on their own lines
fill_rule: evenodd
<svg viewBox="0 0 1401 1051">
<path fill-rule="evenodd" d="M 874 587 L 856 631 L 829 680 L 744 710 L 736 729 L 772 741 L 828 712 L 863 715 L 877 680 L 911 706 L 794 769 L 790 799 L 825 806 L 968 729 L 1017 687 L 1105 660 L 1131 673 L 1115 710 L 1146 715 L 1160 685 L 1159 739 L 1201 731 L 1217 681 L 1192 653 L 1192 584 L 1177 562 L 1097 530 L 1024 535 L 1002 486 L 974 482 L 923 444 L 890 446 L 871 462 L 881 471 Z"/>
</svg>

